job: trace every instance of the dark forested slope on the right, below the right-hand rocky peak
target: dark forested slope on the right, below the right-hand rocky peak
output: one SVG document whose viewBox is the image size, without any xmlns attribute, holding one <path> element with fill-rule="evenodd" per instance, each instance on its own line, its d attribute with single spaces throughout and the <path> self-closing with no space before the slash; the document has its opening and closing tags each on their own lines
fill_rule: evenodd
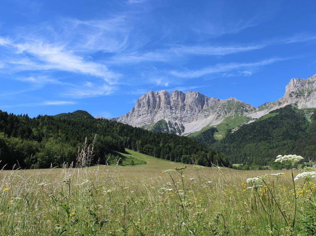
<svg viewBox="0 0 316 236">
<path fill-rule="evenodd" d="M 288 105 L 270 113 L 271 117 L 258 119 L 227 132 L 224 139 L 210 147 L 220 150 L 232 163 L 243 163 L 260 168 L 270 165 L 279 154 L 301 155 L 308 161 L 316 159 L 316 115 L 309 109 L 310 121 L 304 110 Z M 272 116 L 274 115 L 274 116 Z M 205 143 L 205 142 L 204 142 Z"/>
</svg>

